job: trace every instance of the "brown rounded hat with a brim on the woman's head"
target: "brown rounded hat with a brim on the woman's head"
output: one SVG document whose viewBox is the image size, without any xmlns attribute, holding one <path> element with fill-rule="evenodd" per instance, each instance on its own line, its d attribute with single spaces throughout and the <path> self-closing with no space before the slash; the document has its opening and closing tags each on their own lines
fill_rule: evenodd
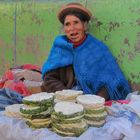
<svg viewBox="0 0 140 140">
<path fill-rule="evenodd" d="M 62 24 L 64 21 L 64 17 L 70 12 L 80 13 L 86 18 L 86 21 L 89 21 L 92 16 L 91 12 L 88 9 L 86 9 L 82 4 L 76 2 L 69 3 L 65 6 L 62 6 L 58 12 L 57 17 Z"/>
</svg>

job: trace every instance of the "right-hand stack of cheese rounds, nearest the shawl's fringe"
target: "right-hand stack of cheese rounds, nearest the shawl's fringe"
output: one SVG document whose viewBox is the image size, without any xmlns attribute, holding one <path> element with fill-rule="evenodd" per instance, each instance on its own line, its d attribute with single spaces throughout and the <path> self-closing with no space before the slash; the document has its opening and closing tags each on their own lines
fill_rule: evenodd
<svg viewBox="0 0 140 140">
<path fill-rule="evenodd" d="M 83 105 L 84 119 L 89 126 L 101 127 L 104 125 L 107 116 L 104 98 L 96 95 L 80 95 L 76 100 Z"/>
</svg>

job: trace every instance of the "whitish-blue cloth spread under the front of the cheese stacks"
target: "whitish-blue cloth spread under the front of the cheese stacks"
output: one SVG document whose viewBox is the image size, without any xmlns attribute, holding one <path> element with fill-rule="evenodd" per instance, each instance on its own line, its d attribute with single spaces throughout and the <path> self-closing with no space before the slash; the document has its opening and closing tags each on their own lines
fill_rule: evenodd
<svg viewBox="0 0 140 140">
<path fill-rule="evenodd" d="M 101 128 L 90 127 L 79 137 L 61 137 L 47 128 L 32 130 L 23 120 L 0 113 L 0 140 L 117 140 L 122 136 L 127 138 L 125 140 L 132 140 L 135 131 L 131 126 L 126 118 L 108 117 Z M 138 128 L 140 133 L 140 125 Z"/>
</svg>

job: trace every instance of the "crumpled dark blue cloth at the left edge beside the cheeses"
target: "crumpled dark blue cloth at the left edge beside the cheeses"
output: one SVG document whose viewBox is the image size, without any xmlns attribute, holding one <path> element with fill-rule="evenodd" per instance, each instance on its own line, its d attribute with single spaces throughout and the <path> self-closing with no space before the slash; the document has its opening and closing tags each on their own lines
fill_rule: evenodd
<svg viewBox="0 0 140 140">
<path fill-rule="evenodd" d="M 23 96 L 8 88 L 0 89 L 0 111 L 12 104 L 21 104 Z"/>
</svg>

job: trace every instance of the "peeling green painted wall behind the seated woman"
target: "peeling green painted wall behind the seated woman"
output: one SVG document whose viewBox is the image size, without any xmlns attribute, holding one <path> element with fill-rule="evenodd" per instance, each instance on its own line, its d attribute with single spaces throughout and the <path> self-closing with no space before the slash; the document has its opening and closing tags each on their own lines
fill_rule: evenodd
<svg viewBox="0 0 140 140">
<path fill-rule="evenodd" d="M 62 32 L 56 13 L 72 0 L 0 3 L 0 74 L 13 65 L 42 65 Z M 77 0 L 93 17 L 90 32 L 108 45 L 133 88 L 140 87 L 140 0 Z"/>
</svg>

